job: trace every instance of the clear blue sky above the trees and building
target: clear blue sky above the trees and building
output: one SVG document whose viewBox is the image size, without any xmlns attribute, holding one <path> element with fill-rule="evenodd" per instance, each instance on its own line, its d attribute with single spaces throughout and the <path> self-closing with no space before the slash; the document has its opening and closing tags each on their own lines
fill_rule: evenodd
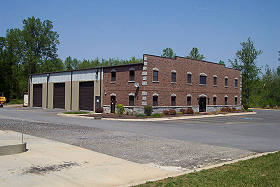
<svg viewBox="0 0 280 187">
<path fill-rule="evenodd" d="M 142 58 L 166 47 L 186 56 L 195 46 L 206 60 L 227 62 L 250 36 L 263 51 L 257 65 L 280 65 L 277 0 L 0 1 L 0 36 L 21 28 L 27 17 L 49 19 L 60 35 L 62 59 Z"/>
</svg>

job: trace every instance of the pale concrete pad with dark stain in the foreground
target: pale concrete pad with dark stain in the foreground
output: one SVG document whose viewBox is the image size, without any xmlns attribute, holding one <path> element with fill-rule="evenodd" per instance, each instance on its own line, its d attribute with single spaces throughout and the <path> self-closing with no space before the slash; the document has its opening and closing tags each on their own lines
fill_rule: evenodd
<svg viewBox="0 0 280 187">
<path fill-rule="evenodd" d="M 0 156 L 0 186 L 128 186 L 178 173 L 35 136 L 24 141 L 27 152 Z"/>
</svg>

